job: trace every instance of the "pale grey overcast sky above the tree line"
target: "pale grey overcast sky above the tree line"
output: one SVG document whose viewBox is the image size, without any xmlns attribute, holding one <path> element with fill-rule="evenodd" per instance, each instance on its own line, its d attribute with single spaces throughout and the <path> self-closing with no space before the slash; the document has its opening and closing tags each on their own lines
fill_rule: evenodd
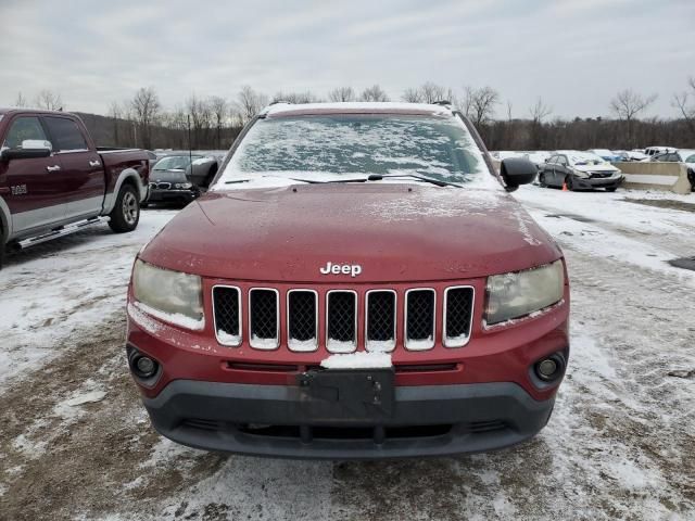
<svg viewBox="0 0 695 521">
<path fill-rule="evenodd" d="M 97 113 L 149 86 L 170 107 L 243 85 L 378 82 L 397 100 L 430 80 L 490 85 L 517 117 L 539 96 L 556 116 L 607 115 L 631 87 L 670 117 L 695 76 L 695 0 L 0 0 L 0 105 L 50 89 Z"/>
</svg>

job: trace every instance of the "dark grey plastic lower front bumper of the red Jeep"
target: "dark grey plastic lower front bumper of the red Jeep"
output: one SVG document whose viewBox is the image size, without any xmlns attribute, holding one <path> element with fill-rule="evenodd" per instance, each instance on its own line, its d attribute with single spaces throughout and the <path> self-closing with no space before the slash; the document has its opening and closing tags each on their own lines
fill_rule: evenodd
<svg viewBox="0 0 695 521">
<path fill-rule="evenodd" d="M 299 385 L 172 381 L 143 402 L 155 429 L 192 447 L 255 456 L 376 459 L 484 452 L 522 442 L 547 423 L 554 397 L 510 382 L 396 386 L 379 421 Z"/>
</svg>

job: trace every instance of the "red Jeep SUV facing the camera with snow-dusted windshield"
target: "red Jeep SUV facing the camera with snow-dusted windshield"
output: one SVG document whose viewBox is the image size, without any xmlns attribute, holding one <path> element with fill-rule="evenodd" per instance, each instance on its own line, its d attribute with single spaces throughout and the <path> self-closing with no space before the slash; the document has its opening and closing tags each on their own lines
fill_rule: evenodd
<svg viewBox="0 0 695 521">
<path fill-rule="evenodd" d="M 569 355 L 557 244 L 446 105 L 275 104 L 138 255 L 127 357 L 155 429 L 214 450 L 488 450 L 548 421 Z"/>
</svg>

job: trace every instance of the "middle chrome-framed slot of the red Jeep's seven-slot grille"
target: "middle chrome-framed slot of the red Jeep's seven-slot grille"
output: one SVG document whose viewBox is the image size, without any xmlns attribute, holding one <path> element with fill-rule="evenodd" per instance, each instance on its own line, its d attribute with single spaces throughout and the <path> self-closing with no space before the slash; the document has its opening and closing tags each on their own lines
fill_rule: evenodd
<svg viewBox="0 0 695 521">
<path fill-rule="evenodd" d="M 326 296 L 326 348 L 352 353 L 357 348 L 357 293 L 329 291 Z"/>
</svg>

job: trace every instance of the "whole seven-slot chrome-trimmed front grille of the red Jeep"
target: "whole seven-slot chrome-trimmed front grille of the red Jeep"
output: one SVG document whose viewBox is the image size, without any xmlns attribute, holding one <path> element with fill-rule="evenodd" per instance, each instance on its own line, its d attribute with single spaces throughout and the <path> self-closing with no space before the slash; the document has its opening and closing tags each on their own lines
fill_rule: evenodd
<svg viewBox="0 0 695 521">
<path fill-rule="evenodd" d="M 216 284 L 212 307 L 215 335 L 225 346 L 239 346 L 245 341 L 255 350 L 275 350 L 287 343 L 287 348 L 295 353 L 319 348 L 352 353 L 358 344 L 366 351 L 392 352 L 399 345 L 427 351 L 438 342 L 455 348 L 470 341 L 475 290 L 452 285 L 437 290 L 372 289 L 358 294 L 343 289 L 281 292 Z M 364 329 L 358 333 L 359 317 Z"/>
</svg>

